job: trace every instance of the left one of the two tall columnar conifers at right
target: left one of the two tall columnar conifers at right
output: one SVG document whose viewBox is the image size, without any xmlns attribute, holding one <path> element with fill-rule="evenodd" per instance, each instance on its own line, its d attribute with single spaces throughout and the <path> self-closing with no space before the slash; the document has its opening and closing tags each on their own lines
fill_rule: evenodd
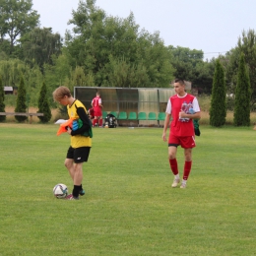
<svg viewBox="0 0 256 256">
<path fill-rule="evenodd" d="M 210 108 L 210 124 L 212 126 L 220 127 L 224 125 L 226 115 L 225 95 L 224 67 L 220 60 L 217 60 Z"/>
</svg>

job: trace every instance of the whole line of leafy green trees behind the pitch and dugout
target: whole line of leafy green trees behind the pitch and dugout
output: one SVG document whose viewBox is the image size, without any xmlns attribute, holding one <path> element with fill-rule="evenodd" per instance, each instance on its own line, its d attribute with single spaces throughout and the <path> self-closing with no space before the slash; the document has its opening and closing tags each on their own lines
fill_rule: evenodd
<svg viewBox="0 0 256 256">
<path fill-rule="evenodd" d="M 224 87 L 235 95 L 238 65 L 244 54 L 251 98 L 256 101 L 256 33 L 243 31 L 237 45 L 218 58 L 204 61 L 204 52 L 165 46 L 160 32 L 140 29 L 131 12 L 127 18 L 109 16 L 96 0 L 82 0 L 72 11 L 72 31 L 62 37 L 39 27 L 32 0 L 0 0 L 0 76 L 4 86 L 25 82 L 30 103 L 37 106 L 42 82 L 46 94 L 58 86 L 164 88 L 174 78 L 192 82 L 199 94 L 212 94 L 218 61 L 224 67 Z M 51 106 L 54 102 L 49 100 Z"/>
</svg>

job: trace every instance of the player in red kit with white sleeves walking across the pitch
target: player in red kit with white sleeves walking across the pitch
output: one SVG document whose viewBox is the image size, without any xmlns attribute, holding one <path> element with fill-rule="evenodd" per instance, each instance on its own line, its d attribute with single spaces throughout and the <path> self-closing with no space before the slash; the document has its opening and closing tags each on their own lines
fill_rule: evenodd
<svg viewBox="0 0 256 256">
<path fill-rule="evenodd" d="M 176 95 L 170 96 L 167 102 L 162 139 L 166 141 L 166 130 L 172 117 L 168 138 L 168 159 L 171 171 L 174 174 L 171 186 L 173 188 L 177 187 L 180 182 L 176 153 L 177 147 L 181 146 L 184 149 L 185 163 L 180 188 L 186 188 L 192 166 L 192 149 L 196 147 L 192 119 L 199 119 L 201 113 L 197 98 L 186 93 L 183 80 L 175 80 L 174 90 Z"/>
</svg>

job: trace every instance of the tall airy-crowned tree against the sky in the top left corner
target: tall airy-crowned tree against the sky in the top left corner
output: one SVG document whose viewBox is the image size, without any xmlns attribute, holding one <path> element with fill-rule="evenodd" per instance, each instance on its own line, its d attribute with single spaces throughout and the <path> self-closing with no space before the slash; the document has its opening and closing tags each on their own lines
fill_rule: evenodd
<svg viewBox="0 0 256 256">
<path fill-rule="evenodd" d="M 13 53 L 21 35 L 38 25 L 38 19 L 39 15 L 32 10 L 32 0 L 0 0 L 0 41 L 10 41 L 8 54 Z"/>
</svg>

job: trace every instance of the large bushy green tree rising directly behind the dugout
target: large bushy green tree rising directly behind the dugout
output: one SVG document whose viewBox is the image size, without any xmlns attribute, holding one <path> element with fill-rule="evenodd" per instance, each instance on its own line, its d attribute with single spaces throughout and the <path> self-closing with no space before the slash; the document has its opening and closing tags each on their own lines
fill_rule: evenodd
<svg viewBox="0 0 256 256">
<path fill-rule="evenodd" d="M 96 7 L 96 0 L 81 0 L 72 15 L 69 23 L 74 25 L 75 36 L 66 33 L 66 45 L 69 56 L 73 56 L 73 68 L 78 65 L 86 74 L 93 74 L 96 86 L 111 86 L 114 72 L 123 79 L 114 62 L 122 62 L 123 68 L 134 67 L 128 68 L 125 76 L 139 76 L 142 70 L 134 70 L 143 67 L 151 87 L 168 86 L 173 68 L 159 32 L 140 32 L 132 13 L 126 19 L 107 16 Z"/>
</svg>

